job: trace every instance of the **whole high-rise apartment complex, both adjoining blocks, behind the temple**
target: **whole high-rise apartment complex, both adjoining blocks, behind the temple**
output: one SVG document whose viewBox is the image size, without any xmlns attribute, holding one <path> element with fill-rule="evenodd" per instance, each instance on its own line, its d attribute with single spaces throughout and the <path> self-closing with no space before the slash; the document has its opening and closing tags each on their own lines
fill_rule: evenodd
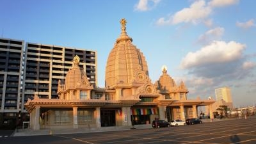
<svg viewBox="0 0 256 144">
<path fill-rule="evenodd" d="M 59 99 L 58 81 L 64 81 L 76 55 L 88 81 L 97 86 L 96 51 L 0 38 L 0 128 L 29 121 L 24 104 L 35 95 Z"/>
</svg>

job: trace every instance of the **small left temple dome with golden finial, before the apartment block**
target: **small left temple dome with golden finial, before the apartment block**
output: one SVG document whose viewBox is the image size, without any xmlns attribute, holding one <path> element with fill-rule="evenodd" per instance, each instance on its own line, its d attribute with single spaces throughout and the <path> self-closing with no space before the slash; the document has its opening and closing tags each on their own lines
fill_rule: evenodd
<svg viewBox="0 0 256 144">
<path fill-rule="evenodd" d="M 73 60 L 73 65 L 70 70 L 68 70 L 66 79 L 65 79 L 65 86 L 66 89 L 74 89 L 76 88 L 77 84 L 80 84 L 83 81 L 83 77 L 85 76 L 84 70 L 79 68 L 79 56 L 75 56 Z"/>
</svg>

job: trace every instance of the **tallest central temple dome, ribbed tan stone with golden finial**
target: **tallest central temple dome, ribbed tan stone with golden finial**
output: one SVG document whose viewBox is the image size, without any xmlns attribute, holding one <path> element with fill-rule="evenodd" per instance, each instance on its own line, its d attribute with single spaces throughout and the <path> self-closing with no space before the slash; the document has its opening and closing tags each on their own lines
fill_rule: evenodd
<svg viewBox="0 0 256 144">
<path fill-rule="evenodd" d="M 126 33 L 126 20 L 120 20 L 122 32 L 109 53 L 106 65 L 106 88 L 115 88 L 118 84 L 131 86 L 138 70 L 148 76 L 147 61 L 140 49 L 132 44 L 132 38 Z"/>
</svg>

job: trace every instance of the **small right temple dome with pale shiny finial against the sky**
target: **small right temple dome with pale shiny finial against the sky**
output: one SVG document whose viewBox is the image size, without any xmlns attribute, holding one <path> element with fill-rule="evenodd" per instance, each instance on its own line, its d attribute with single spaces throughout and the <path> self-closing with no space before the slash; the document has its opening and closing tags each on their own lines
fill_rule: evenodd
<svg viewBox="0 0 256 144">
<path fill-rule="evenodd" d="M 157 89 L 169 92 L 176 88 L 175 81 L 167 74 L 166 67 L 163 67 L 163 74 L 157 81 Z"/>
</svg>

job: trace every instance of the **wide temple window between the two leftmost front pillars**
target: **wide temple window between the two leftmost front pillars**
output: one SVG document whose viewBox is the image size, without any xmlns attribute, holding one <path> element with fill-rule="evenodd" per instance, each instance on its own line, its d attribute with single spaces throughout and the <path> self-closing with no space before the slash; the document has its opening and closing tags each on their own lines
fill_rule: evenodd
<svg viewBox="0 0 256 144">
<path fill-rule="evenodd" d="M 72 123 L 73 111 L 55 111 L 55 124 Z"/>
</svg>

